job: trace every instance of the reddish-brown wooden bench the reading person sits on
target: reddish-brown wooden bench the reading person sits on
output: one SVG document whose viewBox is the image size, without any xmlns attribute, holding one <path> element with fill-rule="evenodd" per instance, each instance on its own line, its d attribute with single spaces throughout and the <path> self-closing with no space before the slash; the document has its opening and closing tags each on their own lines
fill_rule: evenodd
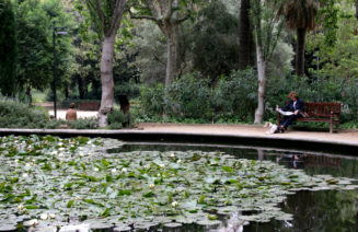
<svg viewBox="0 0 358 232">
<path fill-rule="evenodd" d="M 299 117 L 297 121 L 322 121 L 330 123 L 330 132 L 333 132 L 333 125 L 336 126 L 336 129 L 339 129 L 339 119 L 340 119 L 340 103 L 317 103 L 317 102 L 307 102 L 305 106 L 305 116 Z M 278 125 L 280 125 L 282 118 L 278 114 Z"/>
</svg>

